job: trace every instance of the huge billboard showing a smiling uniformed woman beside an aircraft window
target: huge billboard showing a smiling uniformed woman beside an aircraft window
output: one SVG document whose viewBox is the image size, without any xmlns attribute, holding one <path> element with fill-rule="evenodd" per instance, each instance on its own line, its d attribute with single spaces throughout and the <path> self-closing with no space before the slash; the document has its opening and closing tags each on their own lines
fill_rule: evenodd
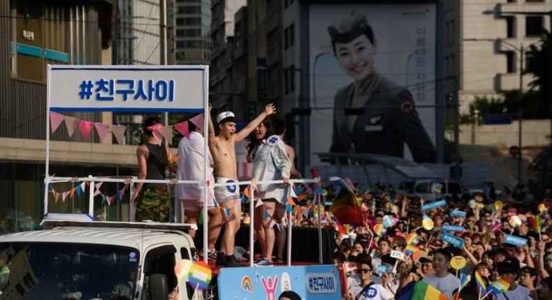
<svg viewBox="0 0 552 300">
<path fill-rule="evenodd" d="M 308 13 L 311 164 L 326 152 L 435 162 L 437 4 Z"/>
</svg>

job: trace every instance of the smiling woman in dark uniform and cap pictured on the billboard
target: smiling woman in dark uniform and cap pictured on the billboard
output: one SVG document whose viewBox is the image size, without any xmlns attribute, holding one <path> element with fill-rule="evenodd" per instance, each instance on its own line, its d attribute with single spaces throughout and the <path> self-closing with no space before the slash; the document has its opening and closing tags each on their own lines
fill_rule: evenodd
<svg viewBox="0 0 552 300">
<path fill-rule="evenodd" d="M 337 62 L 353 79 L 335 94 L 330 151 L 402 158 L 406 142 L 414 161 L 434 163 L 435 146 L 414 110 L 412 94 L 375 70 L 377 39 L 365 15 L 335 22 L 328 33 Z M 345 114 L 351 108 L 363 113 Z"/>
</svg>

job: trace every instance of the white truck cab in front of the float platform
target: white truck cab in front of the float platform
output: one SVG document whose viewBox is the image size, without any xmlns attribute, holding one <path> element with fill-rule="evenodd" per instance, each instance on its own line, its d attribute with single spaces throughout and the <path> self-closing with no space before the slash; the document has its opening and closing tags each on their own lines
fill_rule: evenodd
<svg viewBox="0 0 552 300">
<path fill-rule="evenodd" d="M 0 269 L 9 274 L 0 299 L 164 300 L 173 289 L 179 300 L 191 297 L 174 267 L 194 257 L 184 230 L 196 225 L 54 219 L 43 220 L 45 230 L 0 236 Z"/>
</svg>

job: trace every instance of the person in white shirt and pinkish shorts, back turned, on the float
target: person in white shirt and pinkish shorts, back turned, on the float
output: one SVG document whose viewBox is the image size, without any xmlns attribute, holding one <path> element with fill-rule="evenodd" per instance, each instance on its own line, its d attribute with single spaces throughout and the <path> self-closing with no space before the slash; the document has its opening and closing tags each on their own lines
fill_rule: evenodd
<svg viewBox="0 0 552 300">
<path fill-rule="evenodd" d="M 200 124 L 196 126 L 192 121 L 188 122 L 190 132 L 189 140 L 187 137 L 182 137 L 178 143 L 178 161 L 177 177 L 180 180 L 200 180 L 203 181 L 204 174 L 204 158 L 203 151 L 205 150 L 205 137 L 203 137 L 203 129 Z M 197 123 L 197 122 L 196 122 Z M 215 183 L 212 168 L 212 156 L 208 151 L 208 170 L 207 180 L 211 183 L 208 195 L 208 258 L 217 260 L 217 250 L 215 243 L 221 232 L 222 215 L 219 209 L 215 209 L 214 188 L 212 183 Z M 197 224 L 200 211 L 203 209 L 203 185 L 202 184 L 187 184 L 179 183 L 175 188 L 175 196 L 180 200 L 182 211 L 186 218 L 186 223 Z M 184 220 L 184 218 L 182 218 Z M 192 238 L 196 236 L 196 230 L 190 230 L 189 234 Z M 204 246 L 205 247 L 205 246 Z"/>
</svg>

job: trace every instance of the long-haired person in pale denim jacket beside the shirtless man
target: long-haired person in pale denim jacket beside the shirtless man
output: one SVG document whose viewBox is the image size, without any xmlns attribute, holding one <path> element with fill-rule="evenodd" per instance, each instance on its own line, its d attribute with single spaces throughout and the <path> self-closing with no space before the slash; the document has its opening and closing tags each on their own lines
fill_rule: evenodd
<svg viewBox="0 0 552 300">
<path fill-rule="evenodd" d="M 249 139 L 247 149 L 253 159 L 252 177 L 256 181 L 282 179 L 287 183 L 291 161 L 286 154 L 284 142 L 277 135 L 271 135 L 272 133 L 272 123 L 266 118 L 255 128 Z M 284 184 L 258 183 L 256 189 L 264 203 L 255 209 L 255 233 L 263 250 L 263 256 L 257 260 L 256 265 L 270 266 L 273 265 L 275 242 L 275 232 L 270 225 L 279 222 L 283 216 L 289 193 L 286 193 L 288 188 Z"/>
</svg>

